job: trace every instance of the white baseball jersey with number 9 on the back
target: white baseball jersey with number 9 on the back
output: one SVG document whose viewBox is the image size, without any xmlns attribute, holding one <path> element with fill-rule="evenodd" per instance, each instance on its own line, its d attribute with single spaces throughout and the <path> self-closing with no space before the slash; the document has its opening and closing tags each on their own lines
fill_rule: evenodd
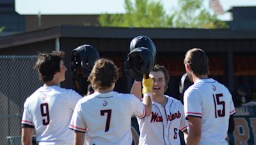
<svg viewBox="0 0 256 145">
<path fill-rule="evenodd" d="M 24 104 L 22 127 L 35 128 L 36 142 L 73 144 L 74 132 L 68 128 L 81 95 L 60 86 L 40 87 Z"/>
</svg>

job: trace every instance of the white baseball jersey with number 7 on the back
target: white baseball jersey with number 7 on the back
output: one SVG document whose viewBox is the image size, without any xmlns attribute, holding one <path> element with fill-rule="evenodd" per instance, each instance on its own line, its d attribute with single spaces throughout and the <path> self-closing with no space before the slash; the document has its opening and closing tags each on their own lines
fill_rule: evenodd
<svg viewBox="0 0 256 145">
<path fill-rule="evenodd" d="M 86 144 L 131 145 L 131 117 L 143 118 L 145 109 L 134 95 L 95 92 L 77 102 L 70 128 L 86 132 Z"/>
</svg>

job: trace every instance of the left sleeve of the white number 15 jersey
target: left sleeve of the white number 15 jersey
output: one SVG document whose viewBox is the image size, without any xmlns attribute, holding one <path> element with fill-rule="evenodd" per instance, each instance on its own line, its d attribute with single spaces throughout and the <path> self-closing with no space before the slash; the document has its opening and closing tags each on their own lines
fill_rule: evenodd
<svg viewBox="0 0 256 145">
<path fill-rule="evenodd" d="M 195 90 L 186 90 L 184 93 L 184 112 L 188 116 L 202 118 L 202 98 Z"/>
</svg>

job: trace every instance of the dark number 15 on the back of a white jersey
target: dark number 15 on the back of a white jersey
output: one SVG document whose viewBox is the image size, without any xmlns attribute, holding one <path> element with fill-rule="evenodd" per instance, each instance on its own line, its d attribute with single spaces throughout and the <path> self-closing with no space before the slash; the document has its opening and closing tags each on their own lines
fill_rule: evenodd
<svg viewBox="0 0 256 145">
<path fill-rule="evenodd" d="M 224 117 L 225 116 L 225 102 L 220 100 L 220 97 L 223 97 L 222 93 L 217 93 L 215 95 L 212 95 L 213 100 L 214 100 L 214 107 L 215 107 L 215 118 L 218 117 Z M 221 109 L 217 109 L 217 106 L 221 105 L 222 106 L 222 110 Z M 217 116 L 218 114 L 218 116 Z"/>
</svg>

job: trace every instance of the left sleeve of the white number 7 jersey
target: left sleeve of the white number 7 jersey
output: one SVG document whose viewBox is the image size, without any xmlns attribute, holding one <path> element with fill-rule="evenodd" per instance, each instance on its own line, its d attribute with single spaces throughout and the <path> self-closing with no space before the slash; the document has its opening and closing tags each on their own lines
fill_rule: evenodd
<svg viewBox="0 0 256 145">
<path fill-rule="evenodd" d="M 81 110 L 81 104 L 77 102 L 72 115 L 69 128 L 77 132 L 86 132 L 86 123 L 83 120 L 83 111 Z"/>
</svg>

